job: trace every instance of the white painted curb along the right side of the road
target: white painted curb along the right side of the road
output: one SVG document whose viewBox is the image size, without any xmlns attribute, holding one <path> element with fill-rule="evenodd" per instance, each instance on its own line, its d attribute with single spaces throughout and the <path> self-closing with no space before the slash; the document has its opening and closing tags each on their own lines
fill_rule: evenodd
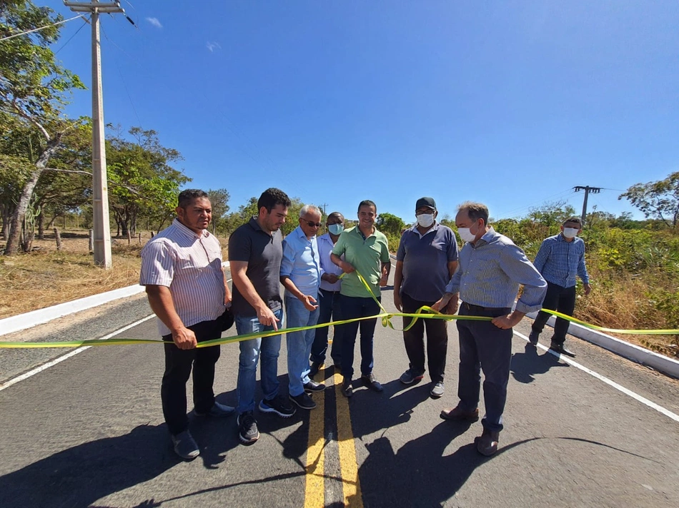
<svg viewBox="0 0 679 508">
<path fill-rule="evenodd" d="M 529 313 L 528 317 L 535 319 L 537 313 Z M 547 321 L 547 325 L 551 327 L 554 326 L 556 317 L 550 316 Z M 653 367 L 653 369 L 658 370 L 658 372 L 663 372 L 668 376 L 679 379 L 679 361 L 673 360 L 670 357 L 664 355 L 659 355 L 657 352 L 650 351 L 640 347 L 638 345 L 630 344 L 624 340 L 620 340 L 617 337 L 611 337 L 603 332 L 598 332 L 596 330 L 590 330 L 578 323 L 570 323 L 568 328 L 568 333 L 574 337 L 578 337 L 588 342 L 592 342 L 606 350 L 615 352 L 615 354 L 638 362 L 641 365 L 647 365 L 648 367 Z"/>
</svg>

